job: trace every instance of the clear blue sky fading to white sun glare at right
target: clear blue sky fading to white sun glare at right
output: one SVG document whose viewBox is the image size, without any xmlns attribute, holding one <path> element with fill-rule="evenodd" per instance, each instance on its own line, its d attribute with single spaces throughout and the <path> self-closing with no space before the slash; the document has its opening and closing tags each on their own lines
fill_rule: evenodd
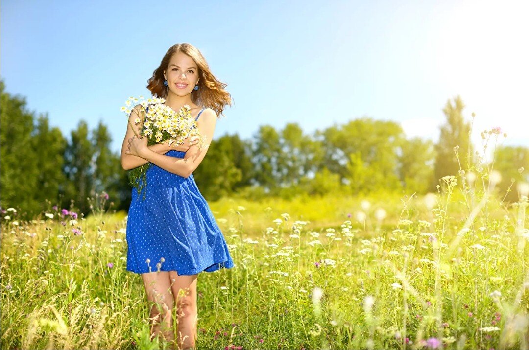
<svg viewBox="0 0 529 350">
<path fill-rule="evenodd" d="M 129 96 L 167 49 L 194 44 L 227 84 L 215 137 L 305 132 L 369 116 L 436 141 L 448 99 L 529 146 L 527 1 L 21 1 L 1 4 L 1 76 L 69 137 L 80 119 L 121 150 Z M 503 138 L 503 137 L 502 137 Z"/>
</svg>

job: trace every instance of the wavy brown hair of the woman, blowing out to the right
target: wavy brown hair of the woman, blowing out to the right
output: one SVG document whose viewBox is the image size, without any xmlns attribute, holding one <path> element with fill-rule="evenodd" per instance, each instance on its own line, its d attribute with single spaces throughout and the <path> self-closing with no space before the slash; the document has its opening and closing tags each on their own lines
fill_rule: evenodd
<svg viewBox="0 0 529 350">
<path fill-rule="evenodd" d="M 231 106 L 231 95 L 224 88 L 227 84 L 219 81 L 206 62 L 202 53 L 189 43 L 178 43 L 172 45 L 163 56 L 160 66 L 154 69 L 152 77 L 147 81 L 147 88 L 151 91 L 153 97 L 167 97 L 169 87 L 163 85 L 163 71 L 169 66 L 169 60 L 172 55 L 182 52 L 191 57 L 198 67 L 198 90 L 191 91 L 191 101 L 198 106 L 204 106 L 215 110 L 217 116 L 221 116 L 226 105 Z"/>
</svg>

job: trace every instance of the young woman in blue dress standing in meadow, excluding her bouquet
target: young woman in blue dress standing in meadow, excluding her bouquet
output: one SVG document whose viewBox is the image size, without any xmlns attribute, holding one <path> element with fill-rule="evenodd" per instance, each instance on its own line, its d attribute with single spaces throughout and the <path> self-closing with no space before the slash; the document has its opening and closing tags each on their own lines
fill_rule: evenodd
<svg viewBox="0 0 529 350">
<path fill-rule="evenodd" d="M 177 308 L 179 348 L 194 348 L 197 337 L 197 276 L 232 268 L 224 236 L 209 206 L 200 194 L 193 171 L 207 153 L 213 139 L 217 114 L 231 105 L 226 84 L 209 70 L 205 58 L 193 45 L 173 45 L 148 80 L 152 95 L 165 98 L 175 111 L 189 105 L 197 120 L 206 147 L 200 149 L 195 138 L 180 146 L 166 143 L 147 146 L 139 135 L 138 106 L 129 116 L 121 150 L 124 170 L 151 162 L 147 185 L 141 194 L 132 189 L 127 219 L 127 271 L 141 274 L 149 303 L 151 336 L 161 334 L 174 346 L 172 309 Z M 204 108 L 202 107 L 204 106 Z M 220 174 L 221 175 L 221 174 Z M 143 190 L 147 194 L 142 200 Z M 140 198 L 138 198 L 140 197 Z M 161 328 L 161 329 L 160 329 Z"/>
</svg>

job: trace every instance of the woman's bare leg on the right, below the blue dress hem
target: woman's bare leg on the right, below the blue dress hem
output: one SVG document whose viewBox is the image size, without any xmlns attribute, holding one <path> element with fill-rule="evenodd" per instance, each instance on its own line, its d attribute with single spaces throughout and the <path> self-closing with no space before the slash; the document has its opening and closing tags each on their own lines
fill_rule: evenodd
<svg viewBox="0 0 529 350">
<path fill-rule="evenodd" d="M 196 347 L 197 337 L 197 276 L 169 271 L 172 294 L 177 309 L 177 344 L 180 349 Z"/>
</svg>

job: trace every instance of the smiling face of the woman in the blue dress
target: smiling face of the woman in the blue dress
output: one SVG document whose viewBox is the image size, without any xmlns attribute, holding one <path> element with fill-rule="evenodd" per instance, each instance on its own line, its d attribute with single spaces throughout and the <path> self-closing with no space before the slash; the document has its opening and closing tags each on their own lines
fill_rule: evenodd
<svg viewBox="0 0 529 350">
<path fill-rule="evenodd" d="M 198 83 L 198 67 L 195 61 L 183 52 L 177 52 L 169 60 L 167 70 L 163 72 L 167 87 L 175 95 L 186 96 Z"/>
</svg>

